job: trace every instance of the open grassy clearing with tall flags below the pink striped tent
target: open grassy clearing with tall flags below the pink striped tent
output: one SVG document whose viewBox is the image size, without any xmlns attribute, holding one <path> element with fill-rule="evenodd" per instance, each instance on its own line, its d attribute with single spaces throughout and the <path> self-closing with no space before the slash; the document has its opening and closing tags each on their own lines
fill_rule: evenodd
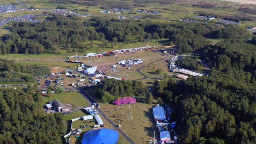
<svg viewBox="0 0 256 144">
<path fill-rule="evenodd" d="M 154 131 L 156 131 L 155 138 L 158 139 L 159 132 L 155 127 L 155 121 L 151 119 L 153 116 L 152 111 L 149 111 L 149 109 L 152 108 L 152 105 L 146 104 L 144 98 L 136 98 L 136 100 L 137 103 L 130 105 L 130 109 L 128 105 L 124 105 L 123 108 L 120 106 L 120 110 L 118 106 L 112 104 L 100 103 L 100 106 L 101 110 L 116 123 L 116 125 L 120 122 L 121 130 L 123 130 L 136 144 L 143 144 L 144 142 L 151 140 L 151 138 L 154 137 Z M 144 109 L 147 111 L 144 112 Z M 131 116 L 133 117 L 131 121 L 126 120 L 129 111 L 132 113 Z M 122 116 L 122 112 L 124 112 L 124 116 Z M 130 114 L 128 115 L 130 116 Z M 106 125 L 106 127 L 109 126 Z"/>
</svg>

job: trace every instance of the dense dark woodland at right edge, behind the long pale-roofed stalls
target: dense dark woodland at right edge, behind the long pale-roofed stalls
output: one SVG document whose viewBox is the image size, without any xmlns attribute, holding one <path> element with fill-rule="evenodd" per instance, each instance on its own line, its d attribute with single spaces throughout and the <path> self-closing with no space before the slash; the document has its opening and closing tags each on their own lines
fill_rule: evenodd
<svg viewBox="0 0 256 144">
<path fill-rule="evenodd" d="M 231 66 L 238 70 L 253 69 L 256 66 L 255 51 L 256 46 L 246 43 L 243 39 L 226 39 L 206 48 L 203 59 L 221 71 L 226 71 Z"/>
</svg>

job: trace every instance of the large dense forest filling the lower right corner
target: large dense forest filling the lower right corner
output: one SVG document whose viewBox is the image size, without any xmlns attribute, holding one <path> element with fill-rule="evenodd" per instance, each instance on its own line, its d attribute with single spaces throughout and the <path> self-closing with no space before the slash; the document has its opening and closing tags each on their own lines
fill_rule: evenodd
<svg viewBox="0 0 256 144">
<path fill-rule="evenodd" d="M 236 68 L 176 82 L 155 81 L 155 91 L 174 107 L 182 143 L 256 143 L 256 73 Z"/>
</svg>

